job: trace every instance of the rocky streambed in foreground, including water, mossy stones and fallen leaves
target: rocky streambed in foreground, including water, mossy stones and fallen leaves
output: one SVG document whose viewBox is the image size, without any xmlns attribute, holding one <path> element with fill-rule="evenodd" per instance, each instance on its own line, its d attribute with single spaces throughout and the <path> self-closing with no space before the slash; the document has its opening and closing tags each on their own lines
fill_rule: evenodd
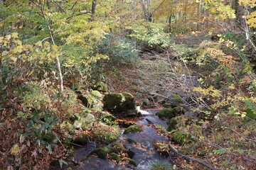
<svg viewBox="0 0 256 170">
<path fill-rule="evenodd" d="M 121 128 L 119 139 L 104 147 L 97 147 L 91 142 L 86 147 L 75 150 L 71 169 L 150 169 L 156 161 L 170 164 L 167 150 L 168 138 L 161 135 L 166 132 L 165 120 L 160 120 L 156 113 L 149 110 L 129 128 Z M 165 146 L 166 145 L 166 146 Z M 171 169 L 171 164 L 170 164 Z"/>
</svg>

